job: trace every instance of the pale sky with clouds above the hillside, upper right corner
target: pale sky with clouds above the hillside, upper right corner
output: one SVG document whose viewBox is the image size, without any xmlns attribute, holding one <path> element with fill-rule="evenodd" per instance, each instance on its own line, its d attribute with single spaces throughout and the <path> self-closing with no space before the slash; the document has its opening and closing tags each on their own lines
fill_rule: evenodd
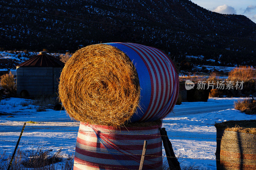
<svg viewBox="0 0 256 170">
<path fill-rule="evenodd" d="M 256 0 L 191 0 L 207 10 L 222 14 L 245 15 L 256 23 Z"/>
</svg>

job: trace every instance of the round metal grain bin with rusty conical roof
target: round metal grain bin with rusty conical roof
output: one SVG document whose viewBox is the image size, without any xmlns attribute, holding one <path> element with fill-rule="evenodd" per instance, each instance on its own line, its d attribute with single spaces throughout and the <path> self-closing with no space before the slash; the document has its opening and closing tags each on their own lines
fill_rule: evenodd
<svg viewBox="0 0 256 170">
<path fill-rule="evenodd" d="M 16 66 L 17 94 L 25 97 L 58 93 L 60 73 L 64 65 L 44 51 L 20 63 Z"/>
</svg>

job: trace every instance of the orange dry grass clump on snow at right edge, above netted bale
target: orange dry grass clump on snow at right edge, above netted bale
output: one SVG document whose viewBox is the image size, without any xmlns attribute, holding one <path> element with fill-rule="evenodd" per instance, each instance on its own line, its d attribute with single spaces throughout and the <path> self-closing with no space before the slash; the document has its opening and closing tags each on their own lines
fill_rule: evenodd
<svg viewBox="0 0 256 170">
<path fill-rule="evenodd" d="M 234 102 L 234 108 L 246 114 L 256 114 L 256 100 L 253 98 L 237 100 Z"/>
</svg>

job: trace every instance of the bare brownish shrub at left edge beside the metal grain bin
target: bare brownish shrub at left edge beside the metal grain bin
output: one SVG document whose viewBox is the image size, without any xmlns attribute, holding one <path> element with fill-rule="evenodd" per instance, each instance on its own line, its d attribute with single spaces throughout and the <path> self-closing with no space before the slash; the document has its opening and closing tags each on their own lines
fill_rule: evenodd
<svg viewBox="0 0 256 170">
<path fill-rule="evenodd" d="M 0 86 L 4 89 L 4 93 L 8 96 L 14 96 L 16 94 L 16 84 L 12 72 L 2 75 L 0 79 Z"/>
</svg>

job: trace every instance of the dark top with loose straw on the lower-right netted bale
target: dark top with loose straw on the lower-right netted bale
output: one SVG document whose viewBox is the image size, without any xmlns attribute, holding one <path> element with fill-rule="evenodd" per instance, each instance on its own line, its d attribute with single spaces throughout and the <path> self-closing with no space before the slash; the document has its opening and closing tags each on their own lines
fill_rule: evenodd
<svg viewBox="0 0 256 170">
<path fill-rule="evenodd" d="M 227 121 L 215 123 L 217 129 L 256 134 L 256 120 Z"/>
</svg>

